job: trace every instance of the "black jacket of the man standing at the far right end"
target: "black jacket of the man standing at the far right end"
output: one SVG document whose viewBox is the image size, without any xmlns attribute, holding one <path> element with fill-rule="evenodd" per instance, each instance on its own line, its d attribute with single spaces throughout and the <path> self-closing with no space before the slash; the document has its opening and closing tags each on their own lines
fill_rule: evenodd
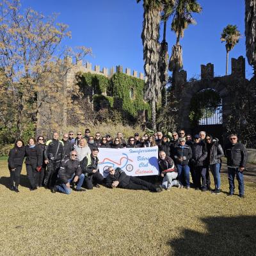
<svg viewBox="0 0 256 256">
<path fill-rule="evenodd" d="M 247 161 L 247 150 L 242 143 L 228 143 L 225 148 L 227 165 L 232 167 L 245 167 Z"/>
</svg>

